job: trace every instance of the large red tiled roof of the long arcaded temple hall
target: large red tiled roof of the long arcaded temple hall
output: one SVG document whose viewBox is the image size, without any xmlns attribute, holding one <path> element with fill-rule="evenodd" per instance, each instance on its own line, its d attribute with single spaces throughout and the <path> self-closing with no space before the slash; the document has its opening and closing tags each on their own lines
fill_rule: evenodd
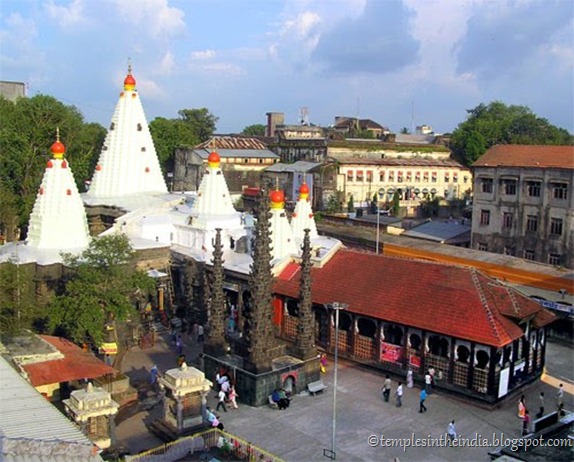
<svg viewBox="0 0 574 462">
<path fill-rule="evenodd" d="M 297 298 L 301 272 L 288 266 L 283 274 L 275 293 Z M 311 281 L 314 303 L 342 302 L 359 315 L 497 347 L 523 335 L 506 314 L 524 319 L 546 311 L 527 297 L 513 303 L 506 287 L 472 268 L 351 250 L 313 268 Z"/>
</svg>

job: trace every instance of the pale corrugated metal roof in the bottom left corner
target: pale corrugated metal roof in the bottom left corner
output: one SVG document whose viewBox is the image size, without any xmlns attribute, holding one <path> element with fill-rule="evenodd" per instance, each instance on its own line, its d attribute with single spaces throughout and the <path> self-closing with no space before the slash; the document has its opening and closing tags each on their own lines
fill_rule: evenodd
<svg viewBox="0 0 574 462">
<path fill-rule="evenodd" d="M 0 433 L 2 460 L 15 460 L 24 455 L 34 460 L 35 454 L 30 452 L 34 448 L 39 451 L 36 460 L 101 460 L 91 454 L 93 443 L 76 425 L 46 401 L 3 357 L 0 357 Z M 27 440 L 26 445 L 19 445 L 19 440 Z M 20 454 L 18 449 L 26 452 Z"/>
</svg>

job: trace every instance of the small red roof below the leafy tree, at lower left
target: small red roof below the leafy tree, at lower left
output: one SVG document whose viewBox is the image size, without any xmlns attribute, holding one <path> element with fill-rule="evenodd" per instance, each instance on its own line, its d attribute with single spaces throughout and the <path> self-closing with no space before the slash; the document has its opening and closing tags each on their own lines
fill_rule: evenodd
<svg viewBox="0 0 574 462">
<path fill-rule="evenodd" d="M 28 380 L 34 387 L 71 380 L 93 379 L 118 371 L 108 366 L 79 346 L 61 337 L 41 335 L 64 355 L 63 359 L 54 359 L 34 364 L 25 364 L 22 368 L 28 374 Z"/>
</svg>

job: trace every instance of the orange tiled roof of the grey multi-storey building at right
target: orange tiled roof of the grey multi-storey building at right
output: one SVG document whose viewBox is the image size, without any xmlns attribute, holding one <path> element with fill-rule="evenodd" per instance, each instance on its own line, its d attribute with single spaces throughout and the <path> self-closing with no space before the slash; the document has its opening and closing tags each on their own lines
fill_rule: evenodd
<svg viewBox="0 0 574 462">
<path fill-rule="evenodd" d="M 472 166 L 574 169 L 574 146 L 497 144 Z"/>
</svg>

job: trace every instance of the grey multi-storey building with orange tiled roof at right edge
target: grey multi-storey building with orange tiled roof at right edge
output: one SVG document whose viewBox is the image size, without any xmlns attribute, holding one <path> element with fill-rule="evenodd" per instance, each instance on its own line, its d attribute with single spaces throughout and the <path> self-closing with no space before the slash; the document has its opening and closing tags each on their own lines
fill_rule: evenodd
<svg viewBox="0 0 574 462">
<path fill-rule="evenodd" d="M 472 167 L 473 248 L 574 268 L 574 146 L 497 145 Z"/>
</svg>

